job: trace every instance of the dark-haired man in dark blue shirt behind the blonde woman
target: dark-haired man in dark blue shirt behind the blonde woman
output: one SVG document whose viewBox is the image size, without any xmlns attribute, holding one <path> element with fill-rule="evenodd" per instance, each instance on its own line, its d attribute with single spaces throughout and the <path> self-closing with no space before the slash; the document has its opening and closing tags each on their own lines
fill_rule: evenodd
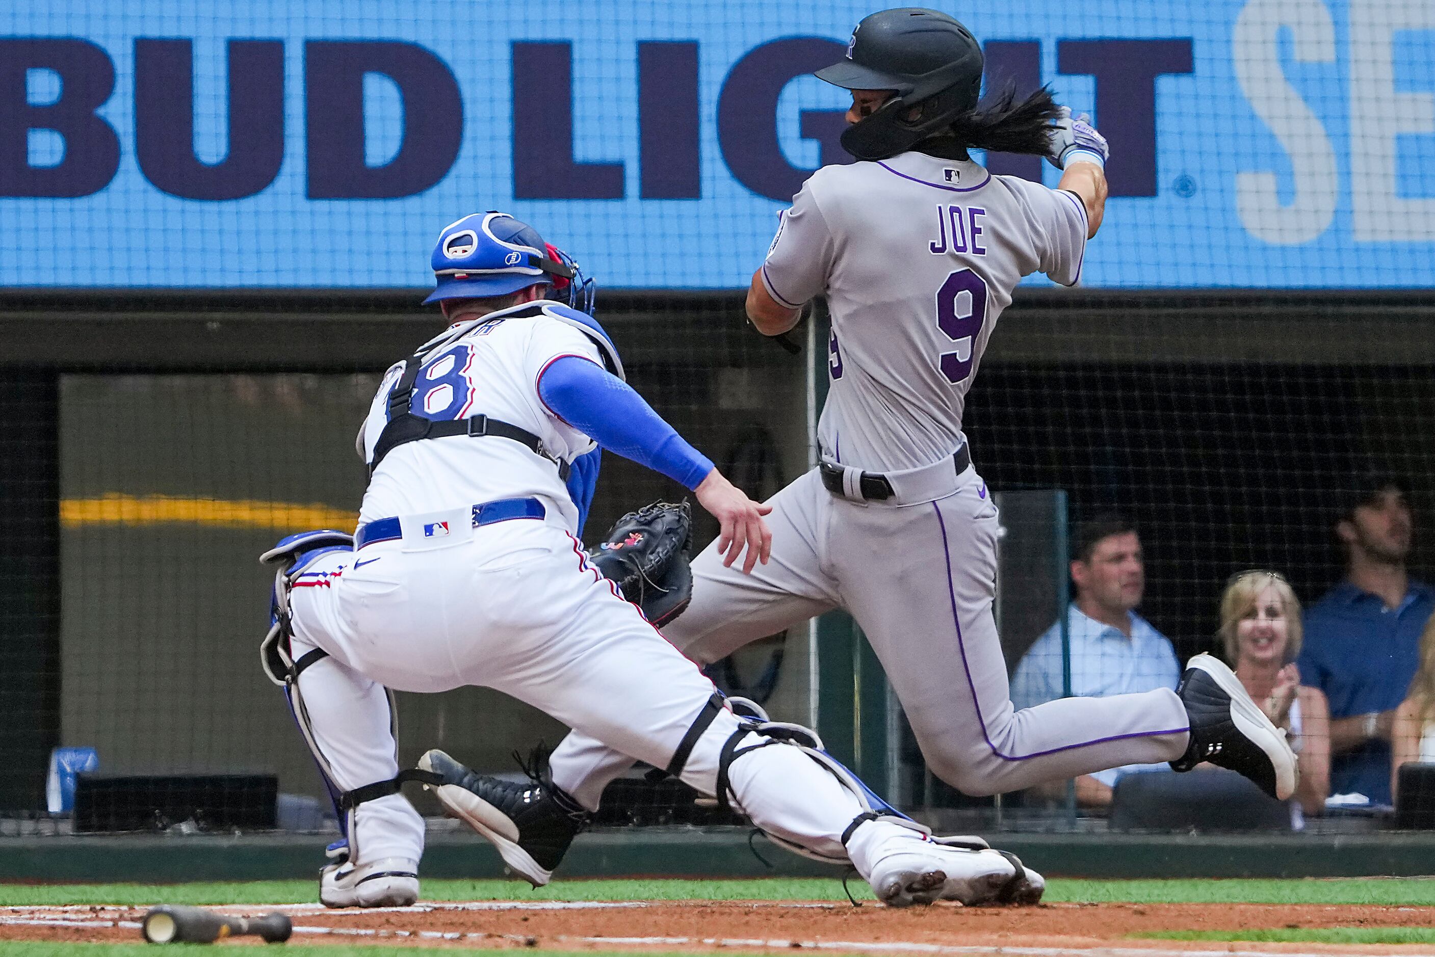
<svg viewBox="0 0 1435 957">
<path fill-rule="evenodd" d="M 1336 522 L 1346 578 L 1306 611 L 1300 683 L 1330 699 L 1330 792 L 1389 805 L 1391 727 L 1419 663 L 1435 590 L 1411 581 L 1402 485 L 1370 478 Z"/>
</svg>

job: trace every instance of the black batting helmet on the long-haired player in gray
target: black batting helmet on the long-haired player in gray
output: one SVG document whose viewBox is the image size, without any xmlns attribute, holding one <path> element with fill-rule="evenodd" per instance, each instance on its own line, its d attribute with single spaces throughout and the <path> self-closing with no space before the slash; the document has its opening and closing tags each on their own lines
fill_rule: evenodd
<svg viewBox="0 0 1435 957">
<path fill-rule="evenodd" d="M 894 90 L 871 116 L 842 132 L 847 152 L 885 159 L 971 110 L 982 92 L 982 44 L 957 20 L 938 10 L 898 7 L 864 17 L 847 56 L 815 76 L 850 90 Z"/>
</svg>

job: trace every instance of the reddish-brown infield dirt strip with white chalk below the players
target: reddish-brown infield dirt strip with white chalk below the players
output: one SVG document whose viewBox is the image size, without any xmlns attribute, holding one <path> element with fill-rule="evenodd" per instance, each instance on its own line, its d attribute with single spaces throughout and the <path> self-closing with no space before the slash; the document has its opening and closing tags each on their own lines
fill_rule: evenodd
<svg viewBox="0 0 1435 957">
<path fill-rule="evenodd" d="M 1027 908 L 831 902 L 505 902 L 420 904 L 413 908 L 327 911 L 313 905 L 227 907 L 225 913 L 284 910 L 294 941 L 412 943 L 415 946 L 541 947 L 557 950 L 811 948 L 835 953 L 943 953 L 946 948 L 1112 947 L 1180 951 L 1435 954 L 1435 944 L 1261 944 L 1164 941 L 1155 931 L 1243 931 L 1323 927 L 1435 927 L 1435 907 L 1310 904 L 1048 904 Z M 0 940 L 138 940 L 142 908 L 14 907 L 0 914 Z"/>
</svg>

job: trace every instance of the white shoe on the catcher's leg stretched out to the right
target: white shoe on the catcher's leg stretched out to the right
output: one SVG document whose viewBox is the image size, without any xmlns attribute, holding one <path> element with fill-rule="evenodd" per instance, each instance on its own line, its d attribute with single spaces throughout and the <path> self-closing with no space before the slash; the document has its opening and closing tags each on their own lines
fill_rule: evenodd
<svg viewBox="0 0 1435 957">
<path fill-rule="evenodd" d="M 872 885 L 877 900 L 888 907 L 936 901 L 996 904 L 1016 882 L 1020 862 L 1013 862 L 1015 858 L 1002 851 L 949 847 L 908 828 L 888 828 L 890 834 L 878 836 L 880 844 L 865 855 L 874 861 L 867 882 Z M 1040 875 L 1036 880 L 1040 881 Z M 1035 892 L 1035 900 L 1040 900 L 1045 885 L 1040 881 L 1023 897 L 1030 898 Z"/>
</svg>

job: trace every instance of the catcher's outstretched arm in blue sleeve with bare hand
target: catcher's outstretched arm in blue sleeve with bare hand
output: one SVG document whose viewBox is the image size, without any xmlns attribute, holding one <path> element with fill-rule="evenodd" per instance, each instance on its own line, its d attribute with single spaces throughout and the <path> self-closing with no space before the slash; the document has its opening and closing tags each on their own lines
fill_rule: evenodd
<svg viewBox="0 0 1435 957">
<path fill-rule="evenodd" d="M 604 449 L 692 489 L 722 525 L 718 548 L 726 552 L 725 565 L 743 552 L 743 571 L 768 562 L 772 532 L 762 517 L 772 506 L 743 495 L 621 379 L 587 359 L 561 356 L 538 377 L 538 397 L 552 415 Z"/>
</svg>

